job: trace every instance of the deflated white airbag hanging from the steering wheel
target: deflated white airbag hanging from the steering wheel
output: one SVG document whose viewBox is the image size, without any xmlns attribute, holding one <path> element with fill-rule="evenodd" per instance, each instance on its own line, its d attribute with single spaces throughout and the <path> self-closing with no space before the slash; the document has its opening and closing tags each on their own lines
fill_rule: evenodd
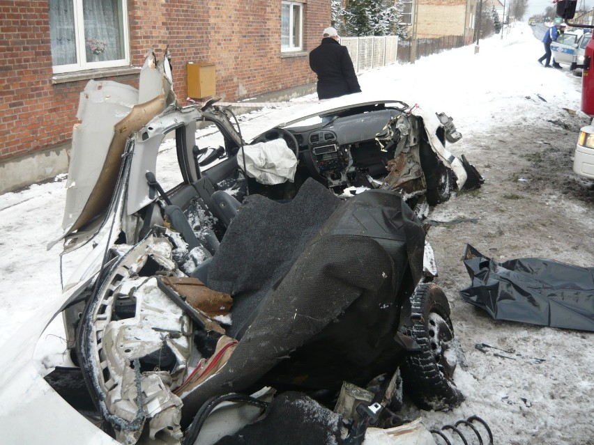
<svg viewBox="0 0 594 445">
<path fill-rule="evenodd" d="M 284 139 L 244 146 L 237 153 L 237 162 L 242 169 L 244 150 L 245 170 L 251 178 L 255 178 L 265 185 L 293 182 L 297 169 L 297 158 Z"/>
</svg>

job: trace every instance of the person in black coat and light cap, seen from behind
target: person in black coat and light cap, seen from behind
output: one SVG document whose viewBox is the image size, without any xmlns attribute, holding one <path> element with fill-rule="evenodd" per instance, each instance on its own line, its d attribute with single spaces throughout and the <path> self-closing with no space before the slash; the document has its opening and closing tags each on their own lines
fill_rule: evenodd
<svg viewBox="0 0 594 445">
<path fill-rule="evenodd" d="M 351 56 L 347 47 L 338 42 L 338 33 L 334 28 L 323 30 L 321 45 L 310 52 L 310 68 L 318 76 L 319 99 L 361 91 Z"/>
</svg>

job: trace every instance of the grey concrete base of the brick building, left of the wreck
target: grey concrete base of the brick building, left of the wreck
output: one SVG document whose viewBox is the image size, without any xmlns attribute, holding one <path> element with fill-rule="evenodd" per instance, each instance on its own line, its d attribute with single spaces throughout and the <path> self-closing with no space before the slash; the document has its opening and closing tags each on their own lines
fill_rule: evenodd
<svg viewBox="0 0 594 445">
<path fill-rule="evenodd" d="M 70 142 L 0 162 L 0 194 L 68 172 Z"/>
</svg>

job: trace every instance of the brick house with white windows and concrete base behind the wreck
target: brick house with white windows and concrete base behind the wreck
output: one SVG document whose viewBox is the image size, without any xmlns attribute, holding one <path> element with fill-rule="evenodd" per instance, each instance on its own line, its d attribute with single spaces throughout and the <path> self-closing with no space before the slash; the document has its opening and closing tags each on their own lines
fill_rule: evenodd
<svg viewBox="0 0 594 445">
<path fill-rule="evenodd" d="M 149 47 L 169 45 L 181 104 L 188 61 L 238 100 L 313 83 L 307 54 L 329 23 L 328 0 L 0 0 L 0 192 L 66 171 L 86 82 L 137 87 Z"/>
</svg>

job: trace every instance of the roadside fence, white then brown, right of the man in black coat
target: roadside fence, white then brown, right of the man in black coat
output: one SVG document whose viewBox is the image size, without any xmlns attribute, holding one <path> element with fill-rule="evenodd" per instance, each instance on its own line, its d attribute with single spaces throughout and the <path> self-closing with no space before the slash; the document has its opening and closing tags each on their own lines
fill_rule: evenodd
<svg viewBox="0 0 594 445">
<path fill-rule="evenodd" d="M 416 59 L 464 46 L 464 36 L 399 40 L 397 36 L 343 37 L 340 44 L 347 47 L 356 72 L 393 63 L 409 63 L 413 45 Z"/>
</svg>

